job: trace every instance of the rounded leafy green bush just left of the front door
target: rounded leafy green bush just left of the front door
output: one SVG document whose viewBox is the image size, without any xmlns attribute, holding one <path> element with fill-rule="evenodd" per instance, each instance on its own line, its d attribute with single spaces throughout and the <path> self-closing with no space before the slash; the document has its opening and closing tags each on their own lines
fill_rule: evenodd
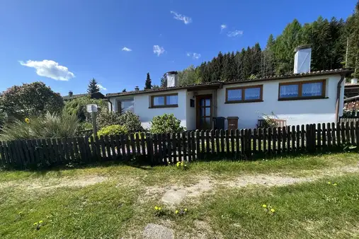
<svg viewBox="0 0 359 239">
<path fill-rule="evenodd" d="M 151 121 L 149 131 L 153 134 L 178 133 L 186 130 L 181 126 L 181 120 L 174 117 L 173 114 L 164 114 L 156 116 Z"/>
</svg>

